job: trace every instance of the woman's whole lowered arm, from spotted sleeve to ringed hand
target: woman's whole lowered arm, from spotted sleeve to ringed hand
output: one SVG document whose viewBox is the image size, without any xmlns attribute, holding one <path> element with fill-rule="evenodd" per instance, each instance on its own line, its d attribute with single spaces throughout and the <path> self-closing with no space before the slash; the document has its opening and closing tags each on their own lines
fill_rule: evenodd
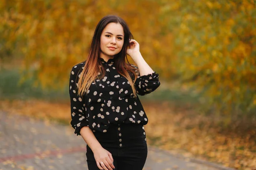
<svg viewBox="0 0 256 170">
<path fill-rule="evenodd" d="M 75 68 L 76 67 L 76 68 Z M 113 170 L 113 157 L 108 150 L 105 150 L 89 128 L 87 109 L 85 107 L 84 96 L 78 96 L 77 82 L 81 68 L 76 65 L 70 72 L 70 104 L 71 122 L 77 135 L 81 135 L 87 145 L 91 148 L 96 160 L 96 164 L 101 170 Z M 100 164 L 103 162 L 104 164 Z"/>
</svg>

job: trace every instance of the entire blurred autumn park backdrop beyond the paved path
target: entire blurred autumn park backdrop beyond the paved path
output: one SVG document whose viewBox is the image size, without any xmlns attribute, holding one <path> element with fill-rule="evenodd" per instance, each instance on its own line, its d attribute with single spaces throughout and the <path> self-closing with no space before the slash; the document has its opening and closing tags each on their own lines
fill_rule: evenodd
<svg viewBox="0 0 256 170">
<path fill-rule="evenodd" d="M 70 70 L 107 14 L 160 75 L 148 144 L 256 168 L 255 0 L 0 0 L 0 110 L 70 126 Z"/>
</svg>

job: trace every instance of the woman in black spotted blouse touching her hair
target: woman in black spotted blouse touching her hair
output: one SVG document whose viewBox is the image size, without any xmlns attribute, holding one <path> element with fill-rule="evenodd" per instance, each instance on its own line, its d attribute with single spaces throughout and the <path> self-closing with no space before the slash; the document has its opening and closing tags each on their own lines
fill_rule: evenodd
<svg viewBox="0 0 256 170">
<path fill-rule="evenodd" d="M 126 54 L 138 67 L 125 62 Z M 71 125 L 87 143 L 89 170 L 143 169 L 148 118 L 137 94 L 149 94 L 159 85 L 125 21 L 103 17 L 87 60 L 70 73 Z"/>
</svg>

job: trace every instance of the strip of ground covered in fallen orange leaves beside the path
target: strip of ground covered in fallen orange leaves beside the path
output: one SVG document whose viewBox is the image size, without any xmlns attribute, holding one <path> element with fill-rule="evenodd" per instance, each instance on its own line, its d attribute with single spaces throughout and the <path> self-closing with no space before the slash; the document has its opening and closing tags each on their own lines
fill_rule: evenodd
<svg viewBox="0 0 256 170">
<path fill-rule="evenodd" d="M 256 129 L 233 123 L 224 126 L 209 116 L 170 102 L 143 102 L 149 122 L 148 144 L 172 153 L 224 164 L 241 170 L 256 168 Z M 69 102 L 1 100 L 0 109 L 38 119 L 70 123 Z"/>
</svg>

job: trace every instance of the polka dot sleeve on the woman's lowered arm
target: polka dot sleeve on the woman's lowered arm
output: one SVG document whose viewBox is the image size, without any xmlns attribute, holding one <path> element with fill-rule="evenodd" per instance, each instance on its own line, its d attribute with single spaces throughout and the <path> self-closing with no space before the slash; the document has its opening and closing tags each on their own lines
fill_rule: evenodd
<svg viewBox="0 0 256 170">
<path fill-rule="evenodd" d="M 81 64 L 79 64 L 81 65 Z M 77 82 L 79 80 L 79 75 L 81 67 L 78 65 L 74 66 L 70 72 L 70 82 L 69 82 L 69 94 L 70 94 L 70 105 L 71 105 L 71 122 L 70 124 L 75 129 L 77 135 L 80 135 L 80 130 L 84 126 L 89 126 L 87 119 L 86 107 L 84 102 L 84 97 L 78 96 Z"/>
</svg>

